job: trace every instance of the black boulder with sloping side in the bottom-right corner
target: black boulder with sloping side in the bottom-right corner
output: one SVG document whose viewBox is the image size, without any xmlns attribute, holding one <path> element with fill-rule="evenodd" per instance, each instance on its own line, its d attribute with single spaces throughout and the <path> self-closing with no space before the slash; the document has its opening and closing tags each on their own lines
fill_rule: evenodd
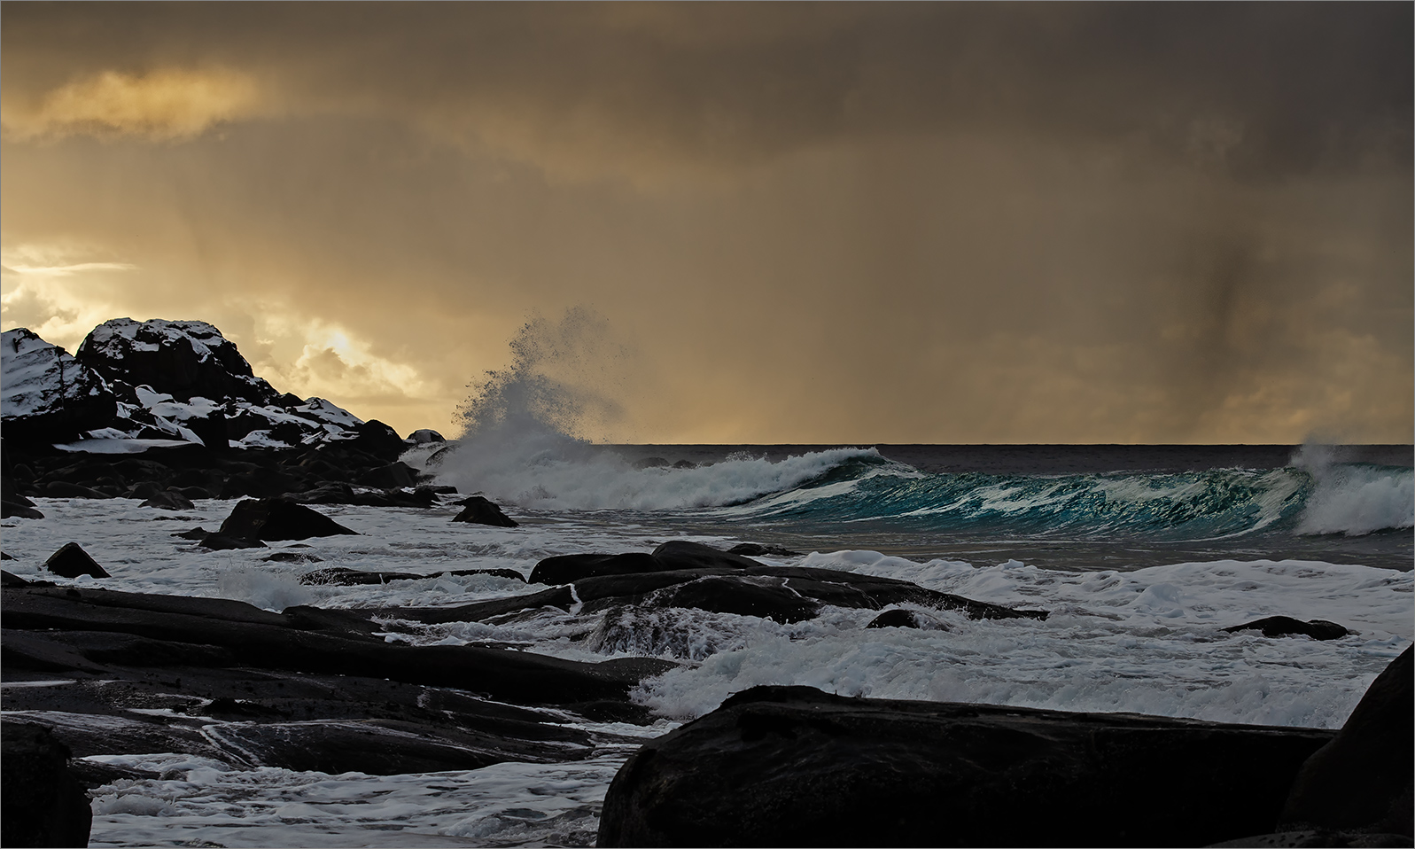
<svg viewBox="0 0 1415 849">
<path fill-rule="evenodd" d="M 1407 648 L 1381 672 L 1341 732 L 1298 773 L 1286 831 L 1317 828 L 1415 835 L 1415 668 Z"/>
</svg>

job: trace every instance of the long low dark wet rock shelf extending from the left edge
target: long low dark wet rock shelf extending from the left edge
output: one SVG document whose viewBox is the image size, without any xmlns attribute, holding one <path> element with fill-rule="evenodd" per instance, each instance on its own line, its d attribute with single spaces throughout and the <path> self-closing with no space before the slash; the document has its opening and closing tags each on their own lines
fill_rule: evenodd
<svg viewBox="0 0 1415 849">
<path fill-rule="evenodd" d="M 4 586 L 4 679 L 47 682 L 4 688 L 4 710 L 51 726 L 76 757 L 178 751 L 236 768 L 369 774 L 580 760 L 628 739 L 567 727 L 563 710 L 647 723 L 628 692 L 674 666 L 388 642 L 381 624 L 316 607 L 270 613 L 14 576 Z M 115 777 L 91 771 L 99 784 Z"/>
</svg>

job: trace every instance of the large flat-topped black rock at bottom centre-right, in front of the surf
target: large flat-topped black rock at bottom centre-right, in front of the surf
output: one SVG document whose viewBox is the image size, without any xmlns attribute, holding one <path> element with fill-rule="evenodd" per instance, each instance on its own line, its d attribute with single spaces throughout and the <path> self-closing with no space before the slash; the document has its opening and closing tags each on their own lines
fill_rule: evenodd
<svg viewBox="0 0 1415 849">
<path fill-rule="evenodd" d="M 1333 732 L 737 693 L 614 777 L 600 846 L 1203 846 L 1271 831 Z"/>
</svg>

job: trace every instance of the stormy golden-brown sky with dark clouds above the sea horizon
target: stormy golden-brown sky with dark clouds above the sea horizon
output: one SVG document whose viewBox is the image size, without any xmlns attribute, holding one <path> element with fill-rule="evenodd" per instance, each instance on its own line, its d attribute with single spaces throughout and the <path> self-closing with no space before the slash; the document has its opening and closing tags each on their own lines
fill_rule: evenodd
<svg viewBox="0 0 1415 849">
<path fill-rule="evenodd" d="M 529 333 L 593 439 L 1405 443 L 1412 25 L 4 3 L 0 318 L 207 320 L 405 433 Z"/>
</svg>

